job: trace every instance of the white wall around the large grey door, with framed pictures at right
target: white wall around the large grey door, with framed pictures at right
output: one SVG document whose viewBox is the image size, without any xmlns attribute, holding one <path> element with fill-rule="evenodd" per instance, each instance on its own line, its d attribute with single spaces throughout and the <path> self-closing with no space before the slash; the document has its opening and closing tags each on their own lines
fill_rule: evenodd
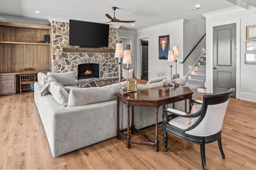
<svg viewBox="0 0 256 170">
<path fill-rule="evenodd" d="M 209 53 L 210 61 L 207 62 L 206 68 L 206 81 L 209 82 L 207 86 L 207 92 L 212 93 L 212 27 L 217 25 L 224 25 L 228 23 L 237 23 L 238 36 L 240 42 L 237 44 L 237 83 L 236 98 L 241 100 L 247 100 L 256 102 L 256 64 L 245 64 L 245 53 L 246 51 L 246 41 L 256 40 L 256 39 L 246 39 L 246 26 L 256 25 L 256 14 L 254 12 L 248 11 L 241 7 L 228 8 L 226 10 L 221 10 L 218 12 L 205 14 L 206 16 L 206 53 Z M 255 51 L 256 52 L 256 51 Z"/>
</svg>

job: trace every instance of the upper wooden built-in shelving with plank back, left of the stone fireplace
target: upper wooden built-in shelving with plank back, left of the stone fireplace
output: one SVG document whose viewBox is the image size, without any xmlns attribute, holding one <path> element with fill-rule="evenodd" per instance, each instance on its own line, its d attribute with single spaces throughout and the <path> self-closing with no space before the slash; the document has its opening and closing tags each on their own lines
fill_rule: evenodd
<svg viewBox="0 0 256 170">
<path fill-rule="evenodd" d="M 0 22 L 0 74 L 19 72 L 31 67 L 36 71 L 51 70 L 51 26 Z"/>
</svg>

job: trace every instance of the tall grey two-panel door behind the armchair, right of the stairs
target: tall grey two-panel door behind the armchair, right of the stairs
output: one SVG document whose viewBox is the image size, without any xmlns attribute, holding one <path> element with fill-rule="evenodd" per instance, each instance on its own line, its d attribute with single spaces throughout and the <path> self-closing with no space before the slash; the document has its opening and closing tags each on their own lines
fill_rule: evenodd
<svg viewBox="0 0 256 170">
<path fill-rule="evenodd" d="M 213 27 L 212 69 L 214 93 L 236 88 L 236 23 Z"/>
</svg>

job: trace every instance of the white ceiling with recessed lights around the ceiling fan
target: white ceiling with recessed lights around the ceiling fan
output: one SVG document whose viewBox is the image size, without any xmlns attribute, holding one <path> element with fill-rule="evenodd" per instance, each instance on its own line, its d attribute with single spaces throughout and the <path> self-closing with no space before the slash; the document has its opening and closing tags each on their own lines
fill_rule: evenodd
<svg viewBox="0 0 256 170">
<path fill-rule="evenodd" d="M 198 10 L 190 10 L 195 5 Z M 226 0 L 0 0 L 0 16 L 14 16 L 50 21 L 72 20 L 105 23 L 105 14 L 114 17 L 112 6 L 118 7 L 116 19 L 136 20 L 111 23 L 124 29 L 142 29 L 180 19 L 192 20 L 202 14 L 236 6 Z M 40 11 L 39 14 L 35 11 Z"/>
</svg>

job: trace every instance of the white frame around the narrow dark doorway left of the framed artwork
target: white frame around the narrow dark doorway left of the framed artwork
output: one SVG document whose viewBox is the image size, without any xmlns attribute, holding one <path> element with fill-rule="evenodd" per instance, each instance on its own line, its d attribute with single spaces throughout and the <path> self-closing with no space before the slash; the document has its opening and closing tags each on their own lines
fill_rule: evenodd
<svg viewBox="0 0 256 170">
<path fill-rule="evenodd" d="M 141 58 L 142 58 L 142 50 L 141 50 L 141 45 L 140 45 L 140 41 L 142 39 L 148 39 L 148 79 L 150 78 L 150 36 L 146 35 L 146 36 L 141 36 L 141 37 L 137 37 L 137 78 L 141 77 L 141 70 L 142 70 L 142 64 L 141 64 Z"/>
</svg>

